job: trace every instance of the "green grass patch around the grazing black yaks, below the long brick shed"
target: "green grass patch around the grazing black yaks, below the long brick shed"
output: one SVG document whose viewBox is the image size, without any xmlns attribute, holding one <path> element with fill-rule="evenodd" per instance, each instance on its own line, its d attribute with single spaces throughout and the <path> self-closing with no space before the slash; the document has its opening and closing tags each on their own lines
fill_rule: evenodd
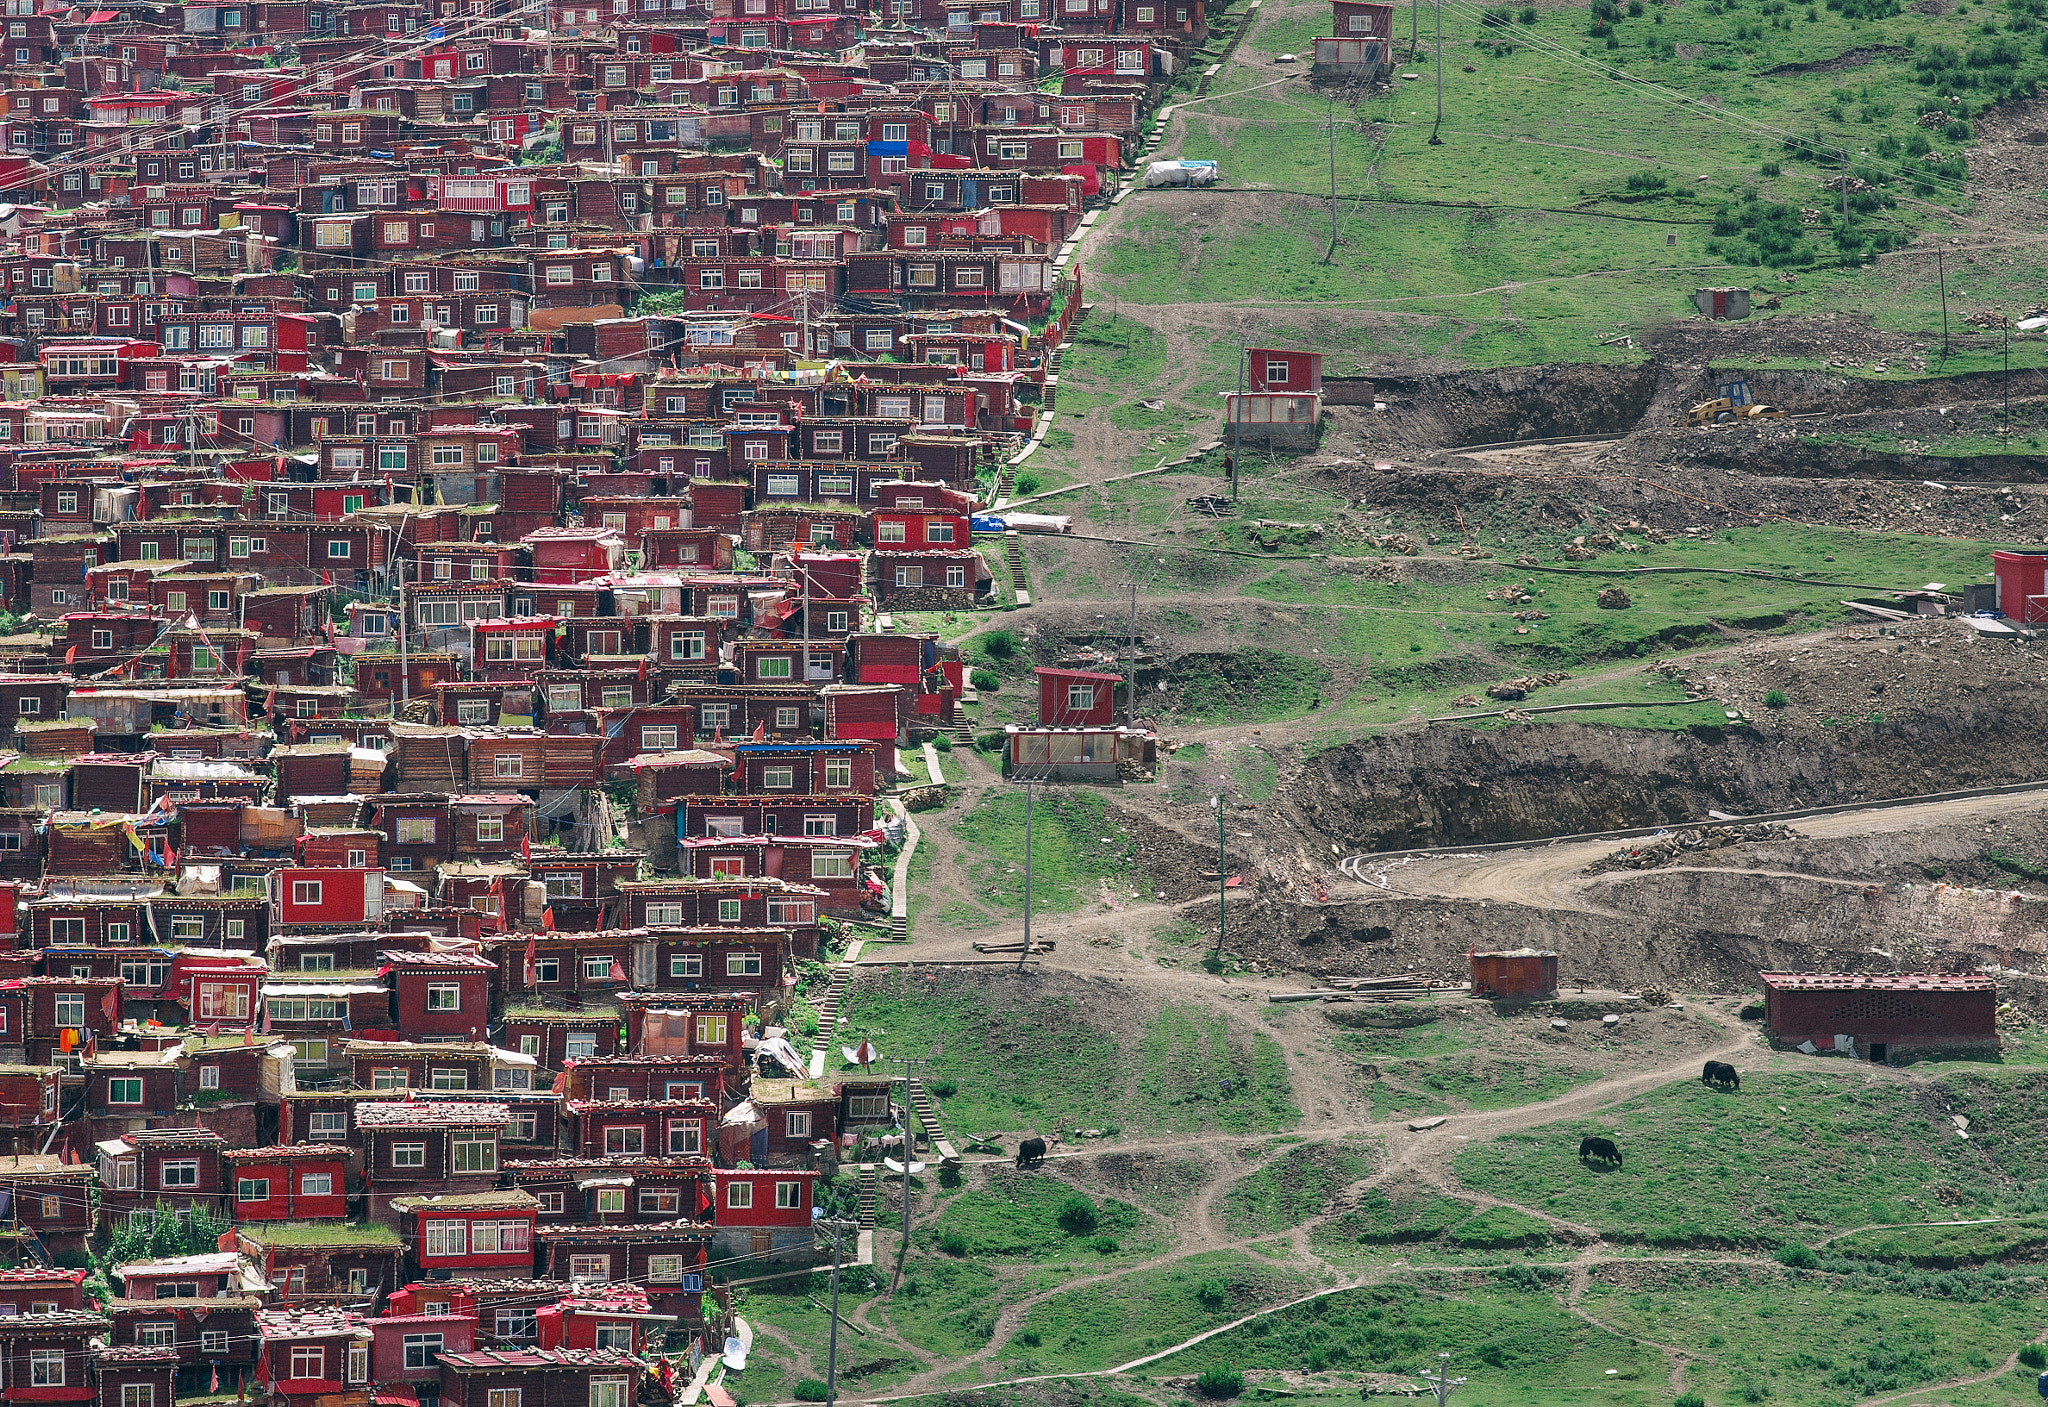
<svg viewBox="0 0 2048 1407">
<path fill-rule="evenodd" d="M 1452 1167 L 1475 1192 L 1653 1245 L 1772 1245 L 1993 1200 L 1997 1169 L 1894 1085 L 1757 1071 L 1739 1098 L 1675 1081 L 1610 1118 L 1503 1135 Z M 1579 1161 L 1587 1135 L 1612 1139 L 1624 1165 Z"/>
</svg>

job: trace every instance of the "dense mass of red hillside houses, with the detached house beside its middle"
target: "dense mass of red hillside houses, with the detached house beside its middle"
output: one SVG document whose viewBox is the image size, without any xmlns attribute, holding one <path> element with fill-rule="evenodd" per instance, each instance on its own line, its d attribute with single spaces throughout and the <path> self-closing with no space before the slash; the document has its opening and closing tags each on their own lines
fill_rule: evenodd
<svg viewBox="0 0 2048 1407">
<path fill-rule="evenodd" d="M 1204 0 L 14 10 L 0 1395 L 666 1401 Z"/>
</svg>

